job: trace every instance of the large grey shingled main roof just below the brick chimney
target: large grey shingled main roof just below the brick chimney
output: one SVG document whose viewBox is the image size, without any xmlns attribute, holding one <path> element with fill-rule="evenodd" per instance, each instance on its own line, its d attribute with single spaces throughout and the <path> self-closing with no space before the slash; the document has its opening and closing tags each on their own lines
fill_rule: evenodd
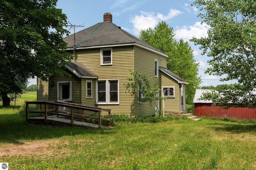
<svg viewBox="0 0 256 170">
<path fill-rule="evenodd" d="M 75 37 L 74 37 L 75 36 Z M 76 42 L 74 42 L 74 38 Z M 162 51 L 148 45 L 141 39 L 124 31 L 110 21 L 100 22 L 91 27 L 78 31 L 75 34 L 64 37 L 64 41 L 68 43 L 68 50 L 102 48 L 113 46 L 137 45 L 144 49 L 148 49 L 165 57 L 168 57 Z"/>
</svg>

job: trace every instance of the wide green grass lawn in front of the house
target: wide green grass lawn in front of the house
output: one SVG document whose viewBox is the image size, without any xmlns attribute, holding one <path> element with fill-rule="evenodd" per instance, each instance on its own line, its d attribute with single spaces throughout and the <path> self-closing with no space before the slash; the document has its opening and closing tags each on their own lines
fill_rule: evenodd
<svg viewBox="0 0 256 170">
<path fill-rule="evenodd" d="M 35 125 L 18 112 L 22 101 L 34 100 L 30 93 L 24 95 L 18 106 L 0 107 L 0 149 L 8 153 L 13 152 L 10 146 L 37 143 L 50 152 L 0 157 L 9 169 L 256 169 L 254 123 L 204 117 L 203 121 L 115 121 L 113 129 Z"/>
</svg>

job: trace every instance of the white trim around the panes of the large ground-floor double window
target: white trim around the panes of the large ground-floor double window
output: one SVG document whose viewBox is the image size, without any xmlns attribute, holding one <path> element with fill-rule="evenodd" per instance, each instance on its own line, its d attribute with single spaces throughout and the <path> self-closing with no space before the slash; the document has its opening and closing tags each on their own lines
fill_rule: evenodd
<svg viewBox="0 0 256 170">
<path fill-rule="evenodd" d="M 110 102 L 110 96 L 109 96 L 109 93 L 110 93 L 110 85 L 109 85 L 109 82 L 110 81 L 114 81 L 114 80 L 117 80 L 118 81 L 118 84 L 117 84 L 117 88 L 118 88 L 118 93 L 117 93 L 117 102 Z M 101 81 L 106 81 L 106 102 L 99 102 L 98 101 L 98 82 L 101 82 Z M 119 90 L 119 79 L 106 79 L 106 80 L 96 80 L 95 81 L 95 89 L 96 89 L 96 93 L 95 93 L 95 96 L 96 96 L 96 104 L 119 104 L 119 93 L 120 93 L 120 90 Z"/>
</svg>

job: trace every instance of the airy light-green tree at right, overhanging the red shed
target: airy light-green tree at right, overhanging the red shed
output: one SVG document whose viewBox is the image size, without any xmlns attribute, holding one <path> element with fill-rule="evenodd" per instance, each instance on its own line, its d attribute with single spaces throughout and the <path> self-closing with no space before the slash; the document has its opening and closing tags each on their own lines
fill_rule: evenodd
<svg viewBox="0 0 256 170">
<path fill-rule="evenodd" d="M 207 73 L 224 80 L 237 79 L 234 90 L 218 90 L 208 96 L 215 103 L 256 106 L 256 1 L 196 0 L 193 5 L 202 11 L 199 16 L 209 26 L 208 37 L 192 38 L 201 45 L 211 66 Z"/>
</svg>

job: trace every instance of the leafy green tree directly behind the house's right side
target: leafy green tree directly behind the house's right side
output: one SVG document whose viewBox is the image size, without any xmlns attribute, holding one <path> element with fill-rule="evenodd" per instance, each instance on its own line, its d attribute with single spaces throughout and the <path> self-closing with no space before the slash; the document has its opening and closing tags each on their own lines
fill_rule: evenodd
<svg viewBox="0 0 256 170">
<path fill-rule="evenodd" d="M 193 102 L 196 88 L 199 87 L 201 78 L 198 76 L 199 64 L 194 59 L 193 50 L 188 42 L 183 39 L 174 39 L 173 28 L 166 22 L 159 22 L 154 29 L 140 31 L 140 39 L 156 49 L 166 53 L 168 70 L 174 72 L 189 84 L 186 85 L 186 103 Z"/>
</svg>

